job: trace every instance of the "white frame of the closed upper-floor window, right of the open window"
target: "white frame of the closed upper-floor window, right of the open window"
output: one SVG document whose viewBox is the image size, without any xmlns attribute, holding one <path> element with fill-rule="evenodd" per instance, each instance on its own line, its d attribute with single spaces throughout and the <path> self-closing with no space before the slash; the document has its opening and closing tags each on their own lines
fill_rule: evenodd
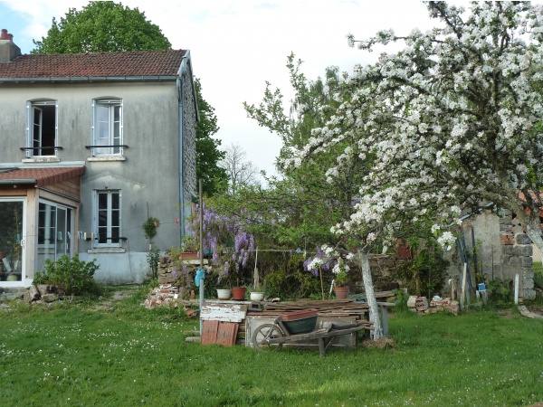
<svg viewBox="0 0 543 407">
<path fill-rule="evenodd" d="M 100 141 L 100 122 L 98 119 L 99 107 L 108 108 L 108 135 L 105 146 Z M 115 108 L 119 108 L 119 137 L 115 137 Z M 118 138 L 118 139 L 116 139 Z M 123 100 L 119 98 L 100 98 L 92 99 L 92 146 L 90 147 L 91 156 L 123 156 Z"/>
</svg>

